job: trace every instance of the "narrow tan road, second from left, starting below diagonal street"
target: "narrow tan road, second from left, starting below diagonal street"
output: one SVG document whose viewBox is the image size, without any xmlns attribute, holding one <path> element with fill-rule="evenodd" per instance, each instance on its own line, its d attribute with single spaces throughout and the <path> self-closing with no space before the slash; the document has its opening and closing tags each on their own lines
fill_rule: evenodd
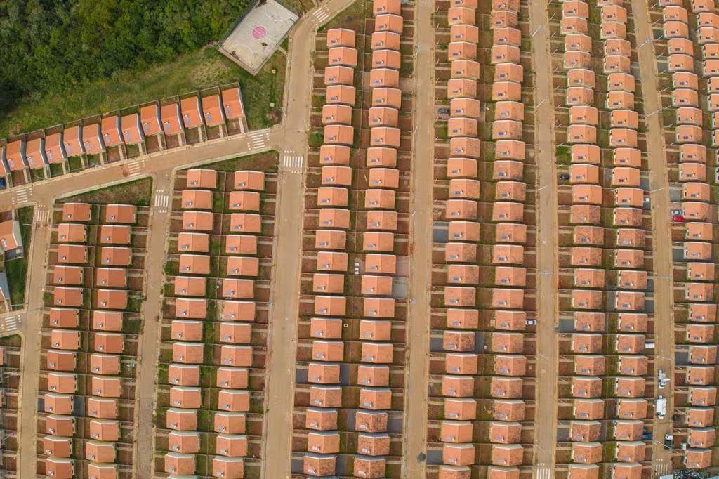
<svg viewBox="0 0 719 479">
<path fill-rule="evenodd" d="M 152 207 L 150 224 L 147 229 L 150 238 L 147 243 L 145 264 L 145 306 L 142 332 L 139 334 L 137 350 L 137 388 L 135 388 L 134 411 L 134 477 L 150 478 L 154 470 L 155 455 L 155 375 L 157 354 L 160 349 L 160 321 L 162 320 L 162 286 L 165 283 L 163 261 L 167 252 L 170 232 L 170 209 L 172 207 L 173 171 L 165 170 L 154 175 L 153 205 L 158 194 L 170 195 L 167 208 Z"/>
</svg>

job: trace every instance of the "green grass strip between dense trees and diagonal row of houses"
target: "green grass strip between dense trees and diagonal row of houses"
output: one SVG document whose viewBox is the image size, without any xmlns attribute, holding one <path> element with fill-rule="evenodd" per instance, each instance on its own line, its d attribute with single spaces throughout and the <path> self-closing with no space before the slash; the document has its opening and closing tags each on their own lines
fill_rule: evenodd
<svg viewBox="0 0 719 479">
<path fill-rule="evenodd" d="M 286 60 L 282 53 L 275 53 L 253 77 L 214 47 L 205 47 L 145 70 L 119 71 L 60 98 L 35 95 L 18 99 L 15 108 L 0 117 L 0 137 L 235 81 L 242 89 L 249 127 L 267 127 L 281 119 Z"/>
</svg>

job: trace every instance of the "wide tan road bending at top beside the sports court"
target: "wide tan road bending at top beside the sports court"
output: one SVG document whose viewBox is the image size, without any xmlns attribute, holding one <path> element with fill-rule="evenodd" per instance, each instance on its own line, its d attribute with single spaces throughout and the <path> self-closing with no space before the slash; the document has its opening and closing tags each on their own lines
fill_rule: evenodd
<svg viewBox="0 0 719 479">
<path fill-rule="evenodd" d="M 297 362 L 297 319 L 302 263 L 302 218 L 304 167 L 312 109 L 313 52 L 317 28 L 352 0 L 329 0 L 305 14 L 290 35 L 290 62 L 285 83 L 283 154 L 285 166 L 278 186 L 275 215 L 273 279 L 270 292 L 270 327 L 267 344 L 262 477 L 290 477 L 294 410 L 295 365 Z"/>
</svg>

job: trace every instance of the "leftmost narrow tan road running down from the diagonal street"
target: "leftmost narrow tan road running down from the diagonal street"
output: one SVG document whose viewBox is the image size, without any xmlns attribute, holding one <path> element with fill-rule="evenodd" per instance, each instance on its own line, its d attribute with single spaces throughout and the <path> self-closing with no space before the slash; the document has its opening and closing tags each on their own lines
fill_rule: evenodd
<svg viewBox="0 0 719 479">
<path fill-rule="evenodd" d="M 50 207 L 52 202 L 36 204 Z M 45 292 L 47 245 L 50 244 L 50 224 L 35 222 L 28 256 L 26 299 L 20 360 L 19 408 L 17 411 L 18 457 L 17 477 L 35 478 L 37 462 L 37 382 L 40 377 L 40 339 L 42 338 L 42 307 Z"/>
</svg>

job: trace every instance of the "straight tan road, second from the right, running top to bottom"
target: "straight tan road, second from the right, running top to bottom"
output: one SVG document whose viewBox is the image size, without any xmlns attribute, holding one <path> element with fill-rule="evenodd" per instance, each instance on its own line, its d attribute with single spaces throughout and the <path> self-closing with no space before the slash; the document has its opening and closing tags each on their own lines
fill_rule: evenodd
<svg viewBox="0 0 719 479">
<path fill-rule="evenodd" d="M 537 211 L 537 326 L 536 411 L 534 412 L 535 477 L 554 470 L 557 443 L 557 334 L 559 317 L 557 281 L 557 168 L 554 165 L 554 86 L 549 49 L 547 1 L 533 0 L 529 31 L 533 32 L 532 62 L 535 71 L 534 140 L 538 178 Z M 540 466 L 541 465 L 541 466 Z"/>
</svg>

